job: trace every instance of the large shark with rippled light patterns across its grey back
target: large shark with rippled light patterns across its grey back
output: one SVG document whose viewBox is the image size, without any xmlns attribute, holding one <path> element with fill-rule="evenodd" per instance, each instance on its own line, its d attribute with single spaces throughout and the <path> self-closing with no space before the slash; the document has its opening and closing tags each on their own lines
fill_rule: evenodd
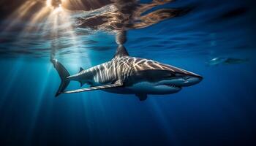
<svg viewBox="0 0 256 146">
<path fill-rule="evenodd" d="M 123 45 L 117 47 L 116 54 L 110 61 L 89 69 L 80 67 L 77 74 L 70 75 L 54 58 L 51 62 L 61 78 L 56 96 L 61 93 L 102 90 L 110 93 L 134 94 L 140 101 L 144 101 L 148 95 L 177 93 L 181 88 L 195 85 L 203 80 L 200 75 L 175 66 L 132 57 Z M 66 91 L 70 81 L 80 82 L 81 88 Z M 89 87 L 82 88 L 84 84 Z"/>
</svg>

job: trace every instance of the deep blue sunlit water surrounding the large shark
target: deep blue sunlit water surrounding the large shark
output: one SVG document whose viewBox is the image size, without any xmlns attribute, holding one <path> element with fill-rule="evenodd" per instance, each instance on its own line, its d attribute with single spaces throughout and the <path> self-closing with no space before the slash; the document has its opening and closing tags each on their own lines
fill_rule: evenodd
<svg viewBox="0 0 256 146">
<path fill-rule="evenodd" d="M 109 61 L 117 47 L 113 28 L 70 31 L 67 21 L 56 27 L 42 20 L 28 24 L 31 31 L 27 18 L 6 28 L 15 21 L 8 9 L 17 9 L 7 4 L 0 2 L 0 145 L 256 145 L 255 2 L 179 0 L 149 12 L 188 8 L 182 15 L 144 28 L 127 24 L 130 55 L 204 77 L 146 101 L 103 91 L 55 98 L 60 79 L 50 55 L 71 74 Z M 58 21 L 50 17 L 45 21 Z"/>
</svg>

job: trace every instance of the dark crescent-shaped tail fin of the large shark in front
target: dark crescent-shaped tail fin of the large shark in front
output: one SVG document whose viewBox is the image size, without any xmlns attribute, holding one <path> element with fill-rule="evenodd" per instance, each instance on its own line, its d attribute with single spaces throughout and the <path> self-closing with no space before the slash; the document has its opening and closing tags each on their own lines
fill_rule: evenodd
<svg viewBox="0 0 256 146">
<path fill-rule="evenodd" d="M 50 60 L 53 63 L 54 68 L 57 70 L 59 73 L 59 77 L 61 77 L 61 85 L 59 85 L 59 89 L 56 92 L 55 96 L 59 96 L 65 88 L 67 88 L 67 85 L 69 85 L 69 80 L 67 80 L 67 77 L 69 77 L 69 72 L 67 72 L 67 69 L 59 63 L 56 59 L 51 59 Z"/>
</svg>

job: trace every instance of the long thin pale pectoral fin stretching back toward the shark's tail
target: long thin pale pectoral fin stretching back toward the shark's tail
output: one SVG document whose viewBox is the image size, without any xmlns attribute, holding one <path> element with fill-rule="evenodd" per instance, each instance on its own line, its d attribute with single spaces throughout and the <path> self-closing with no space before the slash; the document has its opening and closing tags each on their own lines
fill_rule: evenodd
<svg viewBox="0 0 256 146">
<path fill-rule="evenodd" d="M 77 90 L 73 90 L 73 91 L 64 91 L 63 93 L 78 93 L 78 92 L 85 92 L 85 91 L 95 91 L 95 90 L 99 90 L 99 89 L 121 87 L 122 85 L 123 85 L 123 82 L 116 81 L 114 84 L 110 84 L 110 85 L 99 85 L 99 86 L 94 86 L 94 87 L 90 87 L 90 88 L 77 89 Z"/>
</svg>

